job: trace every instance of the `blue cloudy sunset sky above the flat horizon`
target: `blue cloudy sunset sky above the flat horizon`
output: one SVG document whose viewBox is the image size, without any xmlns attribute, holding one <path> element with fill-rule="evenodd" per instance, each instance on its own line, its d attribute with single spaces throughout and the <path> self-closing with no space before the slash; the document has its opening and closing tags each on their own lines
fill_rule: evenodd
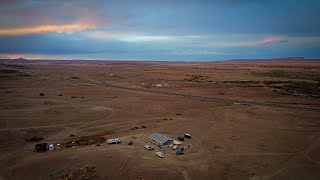
<svg viewBox="0 0 320 180">
<path fill-rule="evenodd" d="M 0 58 L 320 58 L 318 0 L 0 0 Z"/>
</svg>

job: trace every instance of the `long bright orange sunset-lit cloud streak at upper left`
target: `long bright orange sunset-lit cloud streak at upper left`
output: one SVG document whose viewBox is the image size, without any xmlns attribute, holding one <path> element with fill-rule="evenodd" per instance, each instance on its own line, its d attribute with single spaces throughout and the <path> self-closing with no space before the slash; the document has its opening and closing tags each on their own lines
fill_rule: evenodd
<svg viewBox="0 0 320 180">
<path fill-rule="evenodd" d="M 41 34 L 49 32 L 57 33 L 73 33 L 76 31 L 85 31 L 95 29 L 93 24 L 63 24 L 63 25 L 39 25 L 33 27 L 22 28 L 2 28 L 0 29 L 0 36 L 19 36 L 28 34 Z"/>
</svg>

